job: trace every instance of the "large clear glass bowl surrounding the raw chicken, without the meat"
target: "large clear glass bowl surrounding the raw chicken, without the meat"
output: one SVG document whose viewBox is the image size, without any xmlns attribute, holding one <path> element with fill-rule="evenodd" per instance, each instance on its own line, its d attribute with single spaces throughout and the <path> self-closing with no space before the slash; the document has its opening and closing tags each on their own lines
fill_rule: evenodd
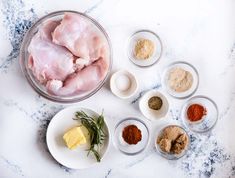
<svg viewBox="0 0 235 178">
<path fill-rule="evenodd" d="M 52 95 L 46 91 L 45 86 L 39 83 L 39 81 L 34 77 L 32 71 L 28 68 L 28 46 L 30 44 L 30 41 L 32 37 L 38 32 L 38 29 L 40 25 L 47 21 L 47 20 L 60 20 L 63 18 L 65 12 L 71 12 L 71 13 L 76 13 L 84 17 L 85 19 L 89 20 L 95 27 L 97 27 L 101 33 L 104 35 L 105 39 L 107 40 L 107 44 L 109 47 L 109 68 L 108 72 L 105 75 L 104 79 L 92 90 L 80 94 L 80 95 L 73 95 L 73 96 L 57 96 L 57 95 Z M 60 103 L 74 103 L 78 101 L 82 101 L 84 99 L 89 98 L 90 96 L 94 95 L 97 91 L 100 90 L 100 88 L 104 85 L 106 79 L 108 78 L 108 75 L 110 73 L 111 67 L 112 67 L 112 47 L 111 47 L 111 42 L 110 39 L 105 32 L 104 28 L 93 18 L 87 16 L 86 14 L 77 12 L 77 11 L 56 11 L 52 12 L 42 18 L 40 18 L 26 33 L 24 40 L 21 45 L 20 49 L 20 66 L 21 70 L 24 73 L 28 83 L 30 86 L 41 96 L 54 101 L 54 102 L 60 102 Z"/>
</svg>

